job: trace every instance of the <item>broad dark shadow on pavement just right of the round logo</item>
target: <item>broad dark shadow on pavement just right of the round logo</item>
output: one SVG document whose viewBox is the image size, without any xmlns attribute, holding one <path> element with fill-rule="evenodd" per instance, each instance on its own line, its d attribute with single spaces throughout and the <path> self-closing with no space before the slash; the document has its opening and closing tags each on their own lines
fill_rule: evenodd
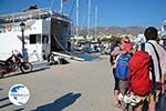
<svg viewBox="0 0 166 111">
<path fill-rule="evenodd" d="M 35 110 L 32 111 L 62 111 L 64 108 L 73 104 L 76 101 L 76 99 L 79 99 L 80 97 L 81 93 L 70 92 L 59 98 L 54 102 L 38 107 Z"/>
</svg>

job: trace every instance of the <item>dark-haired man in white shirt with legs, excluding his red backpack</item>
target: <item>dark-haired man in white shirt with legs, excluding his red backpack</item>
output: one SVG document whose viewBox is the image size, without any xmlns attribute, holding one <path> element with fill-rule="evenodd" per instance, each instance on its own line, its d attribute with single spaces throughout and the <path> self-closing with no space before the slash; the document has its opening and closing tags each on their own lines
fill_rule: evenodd
<svg viewBox="0 0 166 111">
<path fill-rule="evenodd" d="M 144 36 L 146 38 L 145 51 L 152 56 L 152 59 L 154 62 L 155 80 L 157 83 L 156 100 L 154 99 L 153 95 L 149 97 L 149 101 L 148 101 L 149 111 L 156 111 L 156 102 L 157 102 L 158 94 L 160 91 L 164 92 L 165 90 L 164 78 L 166 77 L 166 51 L 159 43 L 157 43 L 158 31 L 156 28 L 148 27 L 145 30 Z M 158 58 L 157 58 L 157 53 L 155 52 L 155 49 L 156 49 L 156 52 L 158 53 Z M 160 71 L 159 71 L 159 67 L 160 67 Z M 152 73 L 151 73 L 151 78 L 152 78 Z M 137 109 L 138 111 L 142 111 L 141 110 L 142 107 L 138 107 L 138 109 Z"/>
</svg>

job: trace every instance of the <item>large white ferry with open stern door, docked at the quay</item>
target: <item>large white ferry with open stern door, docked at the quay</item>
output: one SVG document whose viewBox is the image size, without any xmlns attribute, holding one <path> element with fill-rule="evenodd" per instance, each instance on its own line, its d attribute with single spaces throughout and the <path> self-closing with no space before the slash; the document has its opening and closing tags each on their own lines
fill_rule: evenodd
<svg viewBox="0 0 166 111">
<path fill-rule="evenodd" d="M 25 24 L 21 31 L 20 24 Z M 51 9 L 29 9 L 0 14 L 0 60 L 11 56 L 11 51 L 24 49 L 30 62 L 42 61 L 52 51 L 66 47 L 71 38 L 71 19 Z"/>
</svg>

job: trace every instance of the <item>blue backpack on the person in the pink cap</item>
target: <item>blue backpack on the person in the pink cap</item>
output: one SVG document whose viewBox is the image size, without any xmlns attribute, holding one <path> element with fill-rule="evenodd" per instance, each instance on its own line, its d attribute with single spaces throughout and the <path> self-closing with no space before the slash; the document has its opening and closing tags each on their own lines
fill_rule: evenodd
<svg viewBox="0 0 166 111">
<path fill-rule="evenodd" d="M 116 62 L 115 75 L 121 80 L 126 80 L 128 77 L 128 61 L 131 59 L 129 54 L 121 54 Z"/>
</svg>

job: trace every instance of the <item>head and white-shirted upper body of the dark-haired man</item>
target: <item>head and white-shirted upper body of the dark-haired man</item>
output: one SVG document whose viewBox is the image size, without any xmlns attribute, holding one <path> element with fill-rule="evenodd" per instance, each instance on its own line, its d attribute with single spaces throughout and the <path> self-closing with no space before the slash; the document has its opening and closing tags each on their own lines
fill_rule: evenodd
<svg viewBox="0 0 166 111">
<path fill-rule="evenodd" d="M 146 38 L 146 43 L 145 43 L 145 51 L 148 52 L 152 56 L 152 59 L 154 61 L 154 70 L 155 70 L 155 77 L 156 77 L 156 82 L 163 82 L 164 83 L 164 75 L 166 74 L 166 50 L 157 43 L 157 38 L 158 38 L 158 31 L 156 28 L 154 27 L 149 27 L 145 30 L 144 32 L 145 38 Z M 155 47 L 158 57 L 159 57 L 159 61 L 157 60 L 157 56 L 155 53 L 155 49 L 153 48 L 153 46 Z M 160 65 L 158 65 L 158 62 Z M 159 67 L 162 69 L 162 80 L 159 77 Z M 164 89 L 164 87 L 163 87 Z"/>
</svg>

